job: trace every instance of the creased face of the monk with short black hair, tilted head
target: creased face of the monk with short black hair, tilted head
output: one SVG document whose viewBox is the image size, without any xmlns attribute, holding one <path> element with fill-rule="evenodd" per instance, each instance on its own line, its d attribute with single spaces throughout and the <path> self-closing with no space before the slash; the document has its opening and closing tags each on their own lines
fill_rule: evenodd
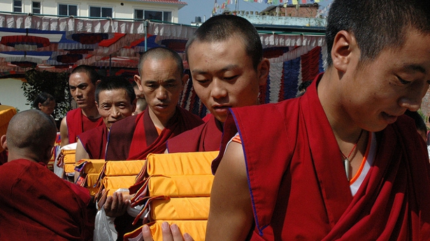
<svg viewBox="0 0 430 241">
<path fill-rule="evenodd" d="M 99 93 L 99 103 L 96 103 L 104 124 L 112 126 L 113 123 L 129 117 L 136 106 L 131 103 L 125 89 L 110 89 Z"/>
</svg>

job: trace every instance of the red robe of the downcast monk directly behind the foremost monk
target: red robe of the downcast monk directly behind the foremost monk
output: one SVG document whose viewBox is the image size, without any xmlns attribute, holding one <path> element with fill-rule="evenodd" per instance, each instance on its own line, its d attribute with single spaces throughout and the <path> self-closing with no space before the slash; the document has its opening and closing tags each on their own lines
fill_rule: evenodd
<svg viewBox="0 0 430 241">
<path fill-rule="evenodd" d="M 208 121 L 167 141 L 167 150 L 174 152 L 210 152 L 220 150 L 223 123 L 210 115 Z"/>
</svg>

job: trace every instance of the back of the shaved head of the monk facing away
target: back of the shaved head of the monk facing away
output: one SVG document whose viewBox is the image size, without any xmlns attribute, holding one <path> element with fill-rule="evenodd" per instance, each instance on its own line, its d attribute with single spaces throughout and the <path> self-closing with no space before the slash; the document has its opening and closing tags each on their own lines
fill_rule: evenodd
<svg viewBox="0 0 430 241">
<path fill-rule="evenodd" d="M 1 145 L 6 143 L 8 161 L 29 159 L 48 163 L 56 136 L 57 129 L 48 115 L 38 110 L 27 110 L 10 119 Z"/>
</svg>

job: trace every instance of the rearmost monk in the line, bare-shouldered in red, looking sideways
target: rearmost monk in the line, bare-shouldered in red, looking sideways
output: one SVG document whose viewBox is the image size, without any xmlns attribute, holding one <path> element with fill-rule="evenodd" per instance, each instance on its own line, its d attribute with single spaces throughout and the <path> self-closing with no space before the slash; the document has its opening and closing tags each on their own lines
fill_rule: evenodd
<svg viewBox="0 0 430 241">
<path fill-rule="evenodd" d="M 81 65 L 73 69 L 69 77 L 69 89 L 78 108 L 67 112 L 59 127 L 61 147 L 76 143 L 78 135 L 84 131 L 96 128 L 103 124 L 94 104 L 94 92 L 99 75 L 90 66 Z"/>
</svg>

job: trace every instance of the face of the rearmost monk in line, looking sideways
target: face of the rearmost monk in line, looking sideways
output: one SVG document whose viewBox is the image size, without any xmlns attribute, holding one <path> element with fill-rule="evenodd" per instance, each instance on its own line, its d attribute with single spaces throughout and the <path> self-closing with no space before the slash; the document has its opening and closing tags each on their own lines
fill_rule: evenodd
<svg viewBox="0 0 430 241">
<path fill-rule="evenodd" d="M 69 89 L 79 108 L 93 108 L 96 86 L 91 82 L 87 73 L 73 73 L 69 77 Z"/>
</svg>

